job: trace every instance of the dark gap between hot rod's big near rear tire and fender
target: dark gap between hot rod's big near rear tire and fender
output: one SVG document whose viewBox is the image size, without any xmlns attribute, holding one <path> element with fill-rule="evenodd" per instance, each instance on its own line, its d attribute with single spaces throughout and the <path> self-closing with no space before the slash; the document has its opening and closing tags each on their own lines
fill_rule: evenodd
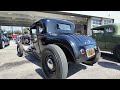
<svg viewBox="0 0 120 90">
<path fill-rule="evenodd" d="M 66 47 L 65 45 L 61 43 L 54 43 L 54 44 L 58 45 L 63 50 L 68 62 L 75 63 L 74 53 L 68 47 Z"/>
</svg>

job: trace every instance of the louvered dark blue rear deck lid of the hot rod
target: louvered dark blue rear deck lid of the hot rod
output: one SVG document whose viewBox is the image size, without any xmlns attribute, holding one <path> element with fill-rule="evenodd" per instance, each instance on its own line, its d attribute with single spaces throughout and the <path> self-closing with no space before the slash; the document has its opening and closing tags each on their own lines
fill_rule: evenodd
<svg viewBox="0 0 120 90">
<path fill-rule="evenodd" d="M 72 40 L 73 42 L 75 42 L 79 46 L 95 45 L 96 44 L 95 40 L 92 37 L 87 36 L 87 35 L 66 34 L 64 36 L 67 37 L 69 40 Z"/>
</svg>

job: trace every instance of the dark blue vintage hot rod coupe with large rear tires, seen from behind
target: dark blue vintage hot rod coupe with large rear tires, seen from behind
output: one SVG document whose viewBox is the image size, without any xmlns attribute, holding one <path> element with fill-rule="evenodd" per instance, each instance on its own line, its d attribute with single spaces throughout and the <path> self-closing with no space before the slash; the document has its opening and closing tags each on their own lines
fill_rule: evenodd
<svg viewBox="0 0 120 90">
<path fill-rule="evenodd" d="M 68 62 L 93 65 L 98 62 L 100 49 L 93 38 L 76 34 L 75 24 L 53 18 L 40 19 L 30 26 L 30 51 L 41 58 L 47 79 L 65 79 Z M 18 56 L 25 50 L 18 43 Z"/>
</svg>

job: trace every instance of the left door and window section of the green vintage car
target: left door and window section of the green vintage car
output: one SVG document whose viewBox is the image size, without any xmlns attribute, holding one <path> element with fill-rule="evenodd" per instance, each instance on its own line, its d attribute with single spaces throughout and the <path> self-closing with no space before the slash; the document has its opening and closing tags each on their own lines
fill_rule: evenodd
<svg viewBox="0 0 120 90">
<path fill-rule="evenodd" d="M 105 31 L 104 29 L 92 30 L 92 37 L 96 40 L 97 46 L 105 50 Z"/>
</svg>

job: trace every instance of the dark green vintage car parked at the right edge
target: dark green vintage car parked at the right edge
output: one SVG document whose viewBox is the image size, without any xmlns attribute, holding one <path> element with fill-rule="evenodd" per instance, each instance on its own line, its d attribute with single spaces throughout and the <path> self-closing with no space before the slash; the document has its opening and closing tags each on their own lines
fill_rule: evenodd
<svg viewBox="0 0 120 90">
<path fill-rule="evenodd" d="M 101 51 L 113 53 L 120 61 L 120 24 L 102 25 L 91 30 Z"/>
</svg>

